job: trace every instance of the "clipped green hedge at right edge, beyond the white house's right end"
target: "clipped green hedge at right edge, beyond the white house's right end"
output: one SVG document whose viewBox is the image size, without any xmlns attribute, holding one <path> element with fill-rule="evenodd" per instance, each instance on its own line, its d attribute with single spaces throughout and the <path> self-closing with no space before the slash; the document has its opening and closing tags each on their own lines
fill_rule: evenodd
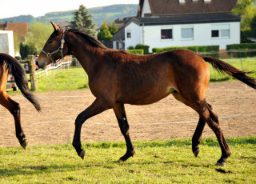
<svg viewBox="0 0 256 184">
<path fill-rule="evenodd" d="M 232 45 L 226 46 L 226 50 L 247 50 L 247 49 L 256 50 L 256 42 L 232 44 Z M 256 56 L 256 52 L 237 52 L 237 53 L 232 53 L 231 58 L 247 58 L 247 57 L 254 57 L 254 56 Z"/>
</svg>

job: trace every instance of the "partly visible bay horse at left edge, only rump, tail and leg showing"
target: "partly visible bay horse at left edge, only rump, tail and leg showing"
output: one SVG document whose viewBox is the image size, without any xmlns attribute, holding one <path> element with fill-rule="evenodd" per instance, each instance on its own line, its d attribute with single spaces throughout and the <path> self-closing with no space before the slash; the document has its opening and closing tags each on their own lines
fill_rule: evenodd
<svg viewBox="0 0 256 184">
<path fill-rule="evenodd" d="M 26 150 L 27 141 L 22 130 L 20 106 L 18 102 L 11 99 L 6 93 L 8 74 L 12 74 L 14 76 L 14 81 L 16 82 L 19 90 L 21 90 L 23 96 L 34 105 L 36 110 L 40 111 L 41 106 L 38 99 L 29 89 L 26 72 L 23 70 L 19 62 L 8 54 L 0 53 L 0 104 L 9 110 L 14 116 L 16 137 L 18 138 L 18 142 L 21 144 L 22 148 Z"/>
</svg>

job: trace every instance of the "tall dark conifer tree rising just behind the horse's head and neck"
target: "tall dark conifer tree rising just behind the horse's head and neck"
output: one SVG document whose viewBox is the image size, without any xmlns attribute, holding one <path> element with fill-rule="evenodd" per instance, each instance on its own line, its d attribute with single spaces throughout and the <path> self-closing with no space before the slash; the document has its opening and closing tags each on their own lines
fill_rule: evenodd
<svg viewBox="0 0 256 184">
<path fill-rule="evenodd" d="M 74 10 L 73 15 L 73 21 L 70 22 L 71 28 L 82 30 L 93 37 L 96 36 L 96 25 L 85 6 L 80 5 L 78 10 Z"/>
</svg>

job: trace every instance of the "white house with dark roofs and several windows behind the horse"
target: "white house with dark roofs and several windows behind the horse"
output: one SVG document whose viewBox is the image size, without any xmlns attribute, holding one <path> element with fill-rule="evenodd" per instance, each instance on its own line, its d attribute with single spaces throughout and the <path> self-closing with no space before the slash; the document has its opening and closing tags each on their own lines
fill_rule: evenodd
<svg viewBox="0 0 256 184">
<path fill-rule="evenodd" d="M 220 46 L 240 43 L 237 0 L 140 0 L 137 17 L 125 18 L 114 49 L 138 43 L 154 47 Z"/>
</svg>

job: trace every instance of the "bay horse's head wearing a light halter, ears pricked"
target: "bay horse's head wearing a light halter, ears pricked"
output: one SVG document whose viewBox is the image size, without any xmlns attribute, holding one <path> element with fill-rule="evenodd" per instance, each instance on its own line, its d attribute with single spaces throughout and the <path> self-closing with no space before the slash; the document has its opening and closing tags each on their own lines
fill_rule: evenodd
<svg viewBox="0 0 256 184">
<path fill-rule="evenodd" d="M 48 38 L 36 62 L 39 68 L 46 68 L 51 62 L 63 58 L 67 53 L 65 42 L 65 30 L 61 30 L 54 22 L 50 22 L 54 27 L 54 32 Z"/>
</svg>

